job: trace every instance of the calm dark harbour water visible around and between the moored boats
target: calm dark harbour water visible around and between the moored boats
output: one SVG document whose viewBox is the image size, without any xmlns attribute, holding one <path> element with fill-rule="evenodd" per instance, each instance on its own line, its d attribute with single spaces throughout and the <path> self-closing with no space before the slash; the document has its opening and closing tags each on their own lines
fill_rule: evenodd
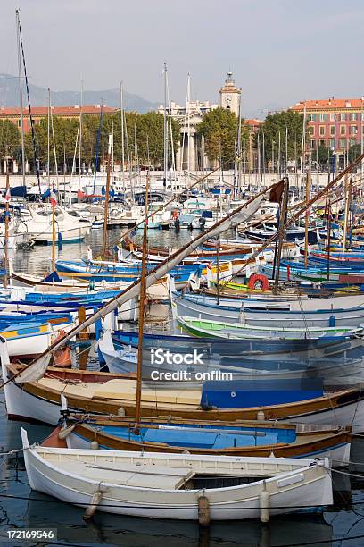
<svg viewBox="0 0 364 547">
<path fill-rule="evenodd" d="M 120 239 L 120 231 L 110 231 L 110 242 Z M 179 235 L 167 231 L 151 233 L 150 240 L 166 247 L 181 247 L 190 239 L 190 232 Z M 87 241 L 65 245 L 59 251 L 61 258 L 87 257 L 87 244 L 100 250 L 102 236 L 93 231 Z M 49 271 L 51 248 L 36 247 L 14 254 L 14 269 L 29 273 Z M 0 450 L 7 451 L 21 446 L 20 427 L 28 429 L 30 442 L 41 442 L 51 428 L 40 425 L 9 422 L 4 408 L 4 395 L 0 393 Z M 364 438 L 352 444 L 353 462 L 350 471 L 356 475 L 364 473 Z M 360 465 L 361 464 L 361 465 Z M 308 514 L 273 518 L 269 525 L 259 521 L 214 524 L 208 531 L 189 522 L 164 522 L 152 519 L 123 518 L 96 513 L 92 523 L 84 523 L 83 509 L 31 492 L 24 461 L 19 456 L 0 459 L 0 531 L 22 527 L 56 527 L 58 543 L 66 545 L 123 545 L 132 547 L 182 547 L 198 545 L 204 547 L 227 547 L 245 545 L 249 547 L 273 547 L 283 545 L 317 545 L 343 547 L 364 545 L 364 475 L 363 479 L 334 474 L 335 505 L 322 514 Z M 340 542 L 344 538 L 363 535 L 363 538 Z M 2 540 L 0 539 L 0 543 Z M 9 543 L 8 545 L 36 545 L 39 543 Z M 44 544 L 44 543 L 43 543 Z M 52 544 L 52 543 L 47 543 Z"/>
</svg>

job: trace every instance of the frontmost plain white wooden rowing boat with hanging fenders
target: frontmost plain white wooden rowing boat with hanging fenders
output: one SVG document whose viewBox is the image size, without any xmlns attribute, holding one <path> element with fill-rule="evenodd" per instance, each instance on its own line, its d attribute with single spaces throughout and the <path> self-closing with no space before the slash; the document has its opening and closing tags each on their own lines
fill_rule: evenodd
<svg viewBox="0 0 364 547">
<path fill-rule="evenodd" d="M 21 438 L 30 487 L 81 507 L 96 503 L 110 513 L 197 520 L 203 497 L 209 520 L 268 520 L 333 503 L 327 459 L 46 448 L 30 446 L 22 428 Z"/>
</svg>

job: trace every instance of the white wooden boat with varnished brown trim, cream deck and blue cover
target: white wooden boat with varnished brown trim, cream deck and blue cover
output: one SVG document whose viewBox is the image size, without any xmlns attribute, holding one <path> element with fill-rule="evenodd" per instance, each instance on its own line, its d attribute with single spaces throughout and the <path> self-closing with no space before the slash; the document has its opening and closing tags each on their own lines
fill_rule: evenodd
<svg viewBox="0 0 364 547">
<path fill-rule="evenodd" d="M 93 413 L 117 416 L 122 412 L 134 417 L 136 412 L 136 380 L 121 374 L 65 370 L 48 367 L 37 382 L 16 383 L 12 376 L 20 368 L 9 363 L 4 339 L 0 339 L 5 402 L 9 419 L 26 419 L 56 425 L 61 410 L 61 395 L 68 401 L 72 413 Z M 234 390 L 232 390 L 234 391 Z M 227 395 L 229 391 L 227 391 Z M 239 408 L 218 408 L 205 405 L 201 389 L 155 390 L 142 392 L 142 416 L 175 416 L 194 420 L 254 420 L 265 419 L 304 424 L 335 424 L 352 426 L 354 433 L 363 430 L 364 392 L 360 389 L 341 390 L 314 397 L 270 405 Z M 235 398 L 231 398 L 234 401 Z"/>
</svg>

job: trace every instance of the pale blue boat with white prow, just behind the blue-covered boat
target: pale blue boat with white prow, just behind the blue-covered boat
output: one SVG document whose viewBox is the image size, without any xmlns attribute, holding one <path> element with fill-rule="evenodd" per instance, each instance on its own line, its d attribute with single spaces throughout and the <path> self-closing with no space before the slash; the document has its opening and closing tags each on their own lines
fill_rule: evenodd
<svg viewBox="0 0 364 547">
<path fill-rule="evenodd" d="M 189 338 L 189 340 L 193 344 L 195 339 Z M 211 340 L 212 342 L 214 339 L 204 340 Z M 211 342 L 209 342 L 210 346 Z M 312 343 L 311 340 L 310 342 Z M 259 343 L 262 343 L 261 339 Z M 265 344 L 265 341 L 263 343 L 264 348 L 269 346 L 269 344 Z M 135 373 L 139 349 L 125 342 L 116 341 L 116 344 L 117 346 L 115 347 L 110 331 L 103 332 L 102 338 L 98 341 L 98 352 L 99 355 L 101 354 L 103 362 L 112 374 Z M 294 344 L 290 345 L 290 341 L 282 341 L 282 351 L 278 353 L 264 353 L 264 356 L 257 356 L 254 353 L 252 355 L 239 356 L 237 348 L 235 356 L 220 356 L 211 352 L 208 345 L 204 344 L 200 347 L 203 353 L 201 353 L 200 349 L 198 351 L 199 355 L 203 355 L 202 362 L 201 364 L 194 364 L 194 374 L 199 373 L 203 377 L 203 374 L 208 375 L 211 371 L 213 371 L 213 374 L 216 374 L 219 371 L 221 374 L 230 374 L 231 379 L 234 380 L 283 380 L 305 378 L 310 374 L 315 374 L 315 377 L 319 377 L 322 380 L 325 388 L 337 385 L 355 385 L 360 378 L 364 380 L 362 358 L 347 358 L 346 355 L 335 357 L 334 352 L 334 355 L 328 357 L 325 355 L 325 351 L 322 351 L 321 356 L 318 358 L 307 357 L 307 355 L 300 355 L 298 358 L 294 358 L 283 350 L 285 344 L 287 352 L 290 349 L 294 349 Z M 217 344 L 215 345 L 218 347 Z M 235 343 L 231 344 L 233 352 L 235 345 Z M 191 355 L 191 346 L 185 351 L 183 348 L 176 348 L 175 352 L 178 356 L 183 354 Z M 170 356 L 173 357 L 173 355 L 173 351 L 170 350 Z M 179 363 L 178 365 L 173 365 L 163 361 L 163 359 L 156 365 L 155 362 L 152 362 L 151 349 L 146 349 L 145 347 L 143 349 L 143 373 L 145 377 L 153 374 L 155 370 L 159 373 L 162 371 L 169 373 L 172 371 L 186 371 L 188 373 L 190 368 L 189 365 Z"/>
</svg>

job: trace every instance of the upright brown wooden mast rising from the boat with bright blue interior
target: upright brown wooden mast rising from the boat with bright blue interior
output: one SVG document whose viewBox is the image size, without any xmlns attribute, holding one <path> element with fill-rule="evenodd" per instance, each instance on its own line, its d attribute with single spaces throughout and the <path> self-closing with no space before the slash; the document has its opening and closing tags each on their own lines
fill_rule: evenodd
<svg viewBox="0 0 364 547">
<path fill-rule="evenodd" d="M 142 366 L 143 366 L 143 330 L 145 319 L 145 282 L 146 282 L 146 251 L 147 251 L 147 229 L 148 229 L 148 188 L 149 187 L 149 171 L 146 175 L 145 182 L 145 223 L 143 226 L 143 257 L 142 271 L 140 277 L 140 293 L 139 293 L 139 330 L 137 344 L 137 364 L 136 364 L 136 433 L 140 423 L 140 411 L 142 403 Z"/>
</svg>

